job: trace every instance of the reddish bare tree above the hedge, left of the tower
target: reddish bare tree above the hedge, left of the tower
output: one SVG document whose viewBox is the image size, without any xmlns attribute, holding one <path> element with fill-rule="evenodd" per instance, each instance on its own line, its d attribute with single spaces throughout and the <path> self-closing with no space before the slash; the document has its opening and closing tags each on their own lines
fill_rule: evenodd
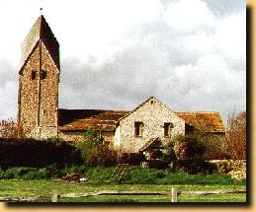
<svg viewBox="0 0 256 212">
<path fill-rule="evenodd" d="M 12 119 L 2 120 L 0 122 L 1 138 L 24 138 L 22 128 Z"/>
</svg>

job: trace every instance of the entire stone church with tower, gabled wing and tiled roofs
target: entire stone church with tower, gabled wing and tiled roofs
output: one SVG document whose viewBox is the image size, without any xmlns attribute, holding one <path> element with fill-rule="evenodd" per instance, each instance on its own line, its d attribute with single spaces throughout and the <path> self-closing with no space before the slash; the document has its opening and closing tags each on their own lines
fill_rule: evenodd
<svg viewBox="0 0 256 212">
<path fill-rule="evenodd" d="M 157 140 L 167 142 L 194 130 L 225 133 L 218 112 L 172 111 L 154 97 L 129 111 L 59 108 L 59 43 L 43 15 L 22 43 L 19 75 L 18 124 L 27 137 L 74 142 L 93 129 L 110 146 L 139 152 Z"/>
</svg>

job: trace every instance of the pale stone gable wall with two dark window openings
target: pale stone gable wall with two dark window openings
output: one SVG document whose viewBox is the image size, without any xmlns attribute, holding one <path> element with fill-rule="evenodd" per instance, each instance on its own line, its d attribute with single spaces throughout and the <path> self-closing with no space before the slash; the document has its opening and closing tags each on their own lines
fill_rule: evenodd
<svg viewBox="0 0 256 212">
<path fill-rule="evenodd" d="M 134 121 L 144 123 L 142 136 L 134 136 Z M 173 123 L 170 137 L 164 137 L 164 122 Z M 115 148 L 137 152 L 150 138 L 159 137 L 166 143 L 177 134 L 185 134 L 185 121 L 153 98 L 122 119 L 117 134 L 119 138 L 115 140 Z"/>
</svg>

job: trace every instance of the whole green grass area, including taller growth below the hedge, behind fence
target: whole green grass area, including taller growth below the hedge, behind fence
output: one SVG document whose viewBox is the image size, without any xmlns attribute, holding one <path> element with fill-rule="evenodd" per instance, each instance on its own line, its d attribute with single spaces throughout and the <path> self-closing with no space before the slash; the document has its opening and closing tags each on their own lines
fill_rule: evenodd
<svg viewBox="0 0 256 212">
<path fill-rule="evenodd" d="M 188 175 L 184 172 L 143 169 L 139 166 L 129 168 L 128 176 L 117 184 L 115 180 L 106 181 L 115 167 L 52 169 L 51 175 L 45 175 L 45 169 L 12 168 L 0 171 L 0 199 L 33 198 L 39 202 L 50 202 L 53 192 L 60 196 L 68 193 L 84 194 L 88 192 L 108 191 L 161 191 L 170 195 L 98 195 L 77 198 L 60 198 L 61 202 L 171 202 L 172 187 L 181 193 L 179 202 L 246 202 L 246 193 L 225 193 L 193 195 L 195 191 L 246 190 L 246 180 L 235 180 L 226 174 Z M 88 178 L 85 183 L 63 182 L 57 180 L 66 174 L 79 173 Z"/>
</svg>

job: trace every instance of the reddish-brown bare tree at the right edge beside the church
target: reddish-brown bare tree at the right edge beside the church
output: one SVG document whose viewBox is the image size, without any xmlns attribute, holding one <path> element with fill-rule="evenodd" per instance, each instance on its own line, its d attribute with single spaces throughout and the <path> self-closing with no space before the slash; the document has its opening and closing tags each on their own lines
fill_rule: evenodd
<svg viewBox="0 0 256 212">
<path fill-rule="evenodd" d="M 226 129 L 225 145 L 232 159 L 246 159 L 246 111 L 231 112 Z"/>
</svg>

